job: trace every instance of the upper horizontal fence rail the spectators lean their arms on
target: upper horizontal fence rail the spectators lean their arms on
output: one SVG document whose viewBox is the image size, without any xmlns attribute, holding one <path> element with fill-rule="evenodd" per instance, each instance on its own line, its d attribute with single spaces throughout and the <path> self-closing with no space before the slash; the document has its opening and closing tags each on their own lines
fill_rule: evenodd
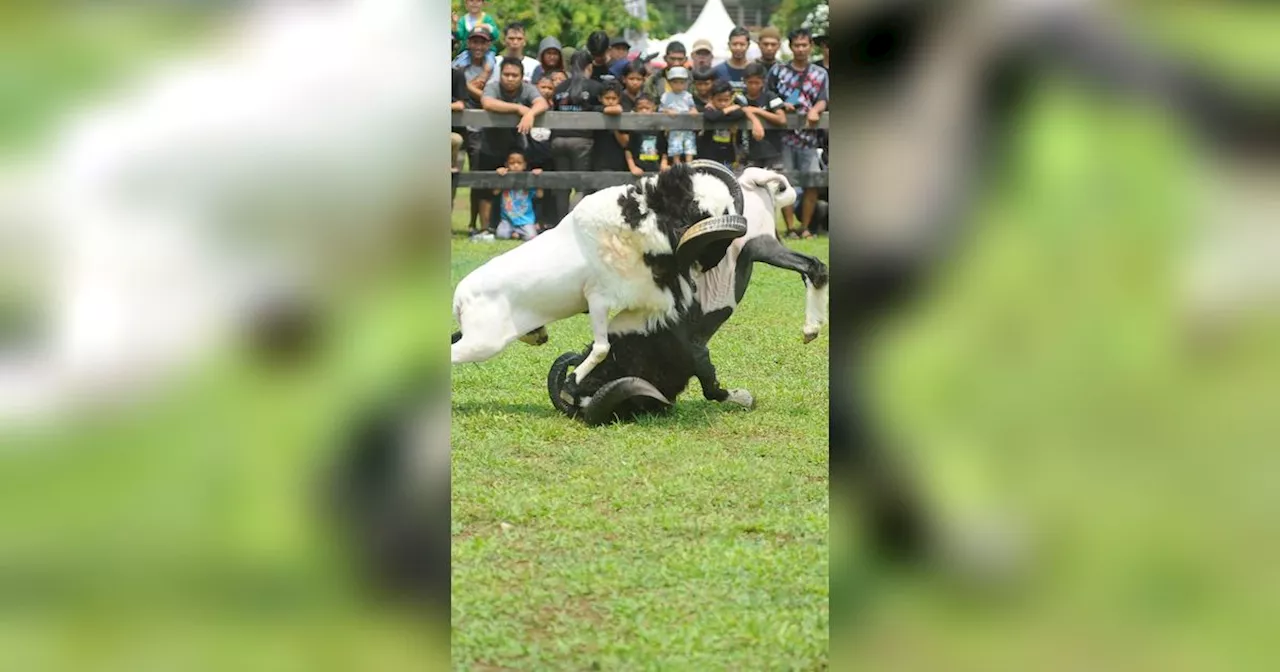
<svg viewBox="0 0 1280 672">
<path fill-rule="evenodd" d="M 515 128 L 520 123 L 520 115 L 506 113 L 489 113 L 484 110 L 454 111 L 454 127 L 472 128 Z M 787 125 L 773 125 L 762 122 L 765 131 L 783 129 L 823 129 L 829 124 L 829 113 L 822 113 L 818 125 L 810 127 L 803 114 L 787 114 Z M 548 111 L 538 115 L 535 127 L 563 129 L 563 131 L 703 131 L 704 128 L 742 128 L 750 129 L 751 122 L 714 122 L 707 123 L 700 114 L 604 114 L 604 113 L 556 113 Z"/>
</svg>

